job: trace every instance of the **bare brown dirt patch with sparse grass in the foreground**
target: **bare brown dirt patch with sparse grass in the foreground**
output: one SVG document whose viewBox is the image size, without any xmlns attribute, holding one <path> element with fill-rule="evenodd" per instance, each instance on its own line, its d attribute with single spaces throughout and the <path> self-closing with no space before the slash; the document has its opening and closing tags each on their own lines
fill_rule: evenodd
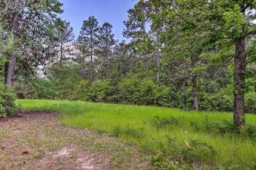
<svg viewBox="0 0 256 170">
<path fill-rule="evenodd" d="M 62 126 L 56 113 L 0 119 L 0 170 L 146 169 L 147 158 L 105 133 Z"/>
</svg>

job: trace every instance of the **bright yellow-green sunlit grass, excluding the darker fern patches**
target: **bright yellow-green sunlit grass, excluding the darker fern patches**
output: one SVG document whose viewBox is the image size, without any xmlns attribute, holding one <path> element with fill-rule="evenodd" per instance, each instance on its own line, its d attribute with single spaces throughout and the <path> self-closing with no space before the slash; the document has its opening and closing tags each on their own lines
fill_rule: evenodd
<svg viewBox="0 0 256 170">
<path fill-rule="evenodd" d="M 199 140 L 210 144 L 216 150 L 215 157 L 207 163 L 222 166 L 227 163 L 237 164 L 243 168 L 253 168 L 256 163 L 256 143 L 233 135 L 221 135 L 207 132 L 204 122 L 232 121 L 232 113 L 222 112 L 185 112 L 176 108 L 146 107 L 137 105 L 115 105 L 90 102 L 18 100 L 25 110 L 52 111 L 62 113 L 61 122 L 66 126 L 100 130 L 114 134 L 116 127 L 138 130 L 141 136 L 121 133 L 118 136 L 150 151 L 152 154 L 163 151 L 161 144 L 167 143 L 167 136 L 176 138 L 180 146 L 184 141 Z M 165 129 L 156 129 L 152 125 L 155 116 L 160 118 L 177 118 L 178 124 Z M 191 121 L 197 122 L 200 130 L 191 127 Z M 246 115 L 246 123 L 256 126 L 256 115 Z M 168 152 L 168 151 L 164 151 Z M 172 155 L 172 153 L 168 153 Z"/>
</svg>

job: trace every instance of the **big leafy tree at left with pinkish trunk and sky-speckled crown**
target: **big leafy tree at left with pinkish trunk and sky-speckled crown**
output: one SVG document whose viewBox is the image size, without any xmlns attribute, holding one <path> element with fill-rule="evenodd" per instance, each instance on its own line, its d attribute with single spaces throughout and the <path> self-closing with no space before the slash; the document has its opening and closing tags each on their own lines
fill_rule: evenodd
<svg viewBox="0 0 256 170">
<path fill-rule="evenodd" d="M 13 33 L 14 46 L 19 53 L 11 54 L 6 83 L 13 85 L 14 77 L 31 74 L 38 65 L 46 65 L 52 57 L 52 27 L 61 13 L 61 3 L 54 1 L 1 1 L 0 21 L 4 30 Z M 16 75 L 15 75 L 16 73 Z"/>
</svg>

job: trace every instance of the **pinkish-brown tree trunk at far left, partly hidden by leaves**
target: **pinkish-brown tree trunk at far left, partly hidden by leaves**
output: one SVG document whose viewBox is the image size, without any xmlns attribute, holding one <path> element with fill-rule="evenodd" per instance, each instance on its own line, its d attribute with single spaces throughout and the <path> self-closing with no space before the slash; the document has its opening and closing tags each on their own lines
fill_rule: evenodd
<svg viewBox="0 0 256 170">
<path fill-rule="evenodd" d="M 19 6 L 19 0 L 14 0 L 16 7 Z M 19 29 L 19 18 L 17 14 L 15 13 L 13 16 L 13 35 L 14 35 L 14 45 L 15 48 L 18 44 L 18 29 Z M 7 69 L 7 77 L 6 77 L 6 85 L 12 86 L 13 85 L 13 75 L 15 71 L 15 65 L 16 65 L 16 56 L 14 54 L 10 55 L 10 62 Z"/>
</svg>

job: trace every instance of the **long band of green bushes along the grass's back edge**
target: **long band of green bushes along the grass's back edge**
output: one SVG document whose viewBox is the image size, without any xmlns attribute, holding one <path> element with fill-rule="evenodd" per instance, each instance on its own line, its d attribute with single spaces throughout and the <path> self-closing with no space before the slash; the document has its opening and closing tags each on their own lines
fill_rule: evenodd
<svg viewBox="0 0 256 170">
<path fill-rule="evenodd" d="M 59 66 L 52 67 L 50 69 L 51 75 L 56 78 L 36 80 L 30 91 L 24 90 L 24 93 L 27 93 L 26 98 L 62 98 L 91 102 L 157 105 L 188 108 L 188 110 L 194 108 L 193 96 L 191 96 L 192 88 L 179 90 L 180 87 L 176 86 L 157 85 L 154 80 L 146 78 L 141 73 L 128 74 L 118 79 L 98 79 L 90 83 L 88 79 L 81 79 L 77 71 L 76 65 L 62 66 L 61 68 Z M 256 95 L 253 80 L 250 78 L 247 81 L 248 86 L 245 93 L 245 110 L 248 113 L 255 113 Z M 232 112 L 233 110 L 232 85 L 220 88 L 216 82 L 207 82 L 198 88 L 198 97 L 200 110 L 222 112 Z"/>
</svg>

